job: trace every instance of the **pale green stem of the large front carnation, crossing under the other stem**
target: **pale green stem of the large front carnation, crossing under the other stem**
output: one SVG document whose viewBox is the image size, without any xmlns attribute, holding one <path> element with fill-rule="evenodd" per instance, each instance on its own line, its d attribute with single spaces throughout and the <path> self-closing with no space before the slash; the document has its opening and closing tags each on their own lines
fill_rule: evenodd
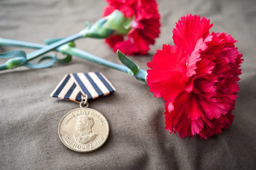
<svg viewBox="0 0 256 170">
<path fill-rule="evenodd" d="M 25 47 L 25 48 L 31 48 L 31 49 L 41 49 L 41 48 L 47 47 L 43 44 L 29 43 L 29 42 L 25 42 L 25 41 L 10 40 L 10 39 L 5 39 L 5 38 L 0 38 L 0 46 L 18 46 L 18 47 Z M 67 44 L 64 44 L 64 45 L 62 45 L 58 48 L 55 48 L 53 50 L 61 52 L 63 54 L 68 54 L 68 55 L 73 55 L 73 56 L 76 56 L 79 58 L 83 58 L 83 59 L 91 61 L 93 63 L 98 63 L 100 65 L 103 65 L 103 66 L 106 66 L 106 67 L 109 67 L 112 69 L 116 69 L 121 72 L 128 73 L 129 75 L 132 74 L 131 70 L 128 69 L 126 66 L 112 63 L 105 59 L 99 58 L 96 55 L 92 55 L 88 52 L 68 46 Z M 1 67 L 1 65 L 0 65 L 0 67 Z M 1 70 L 1 68 L 0 68 L 0 70 Z M 137 74 L 134 75 L 134 78 L 137 78 L 138 80 L 145 82 L 146 75 L 147 75 L 147 73 L 145 70 L 139 69 Z"/>
</svg>

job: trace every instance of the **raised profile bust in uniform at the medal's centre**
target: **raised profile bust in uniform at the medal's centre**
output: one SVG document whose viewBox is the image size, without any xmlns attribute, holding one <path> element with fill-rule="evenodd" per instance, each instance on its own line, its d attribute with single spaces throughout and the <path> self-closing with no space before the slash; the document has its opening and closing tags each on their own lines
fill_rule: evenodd
<svg viewBox="0 0 256 170">
<path fill-rule="evenodd" d="M 73 135 L 76 142 L 86 144 L 92 141 L 98 134 L 92 133 L 94 120 L 90 115 L 79 116 L 75 125 L 78 134 Z"/>
</svg>

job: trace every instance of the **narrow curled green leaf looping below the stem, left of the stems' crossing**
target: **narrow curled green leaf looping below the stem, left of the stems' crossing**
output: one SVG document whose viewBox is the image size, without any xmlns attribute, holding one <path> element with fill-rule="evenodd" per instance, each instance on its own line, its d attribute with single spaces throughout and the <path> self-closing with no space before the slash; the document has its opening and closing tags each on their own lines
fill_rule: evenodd
<svg viewBox="0 0 256 170">
<path fill-rule="evenodd" d="M 45 61 L 45 60 L 49 60 L 49 61 L 47 63 L 41 63 L 42 61 Z M 27 62 L 27 63 L 24 64 L 24 66 L 27 66 L 30 69 L 44 69 L 44 68 L 52 66 L 55 63 L 56 60 L 57 60 L 57 58 L 55 56 L 49 55 L 49 56 L 42 57 L 38 61 L 38 63 L 29 63 L 29 62 Z"/>
</svg>

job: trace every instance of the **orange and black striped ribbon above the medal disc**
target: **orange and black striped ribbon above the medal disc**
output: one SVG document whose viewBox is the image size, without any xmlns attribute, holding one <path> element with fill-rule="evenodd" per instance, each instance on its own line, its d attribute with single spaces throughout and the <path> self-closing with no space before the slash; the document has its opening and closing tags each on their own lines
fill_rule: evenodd
<svg viewBox="0 0 256 170">
<path fill-rule="evenodd" d="M 114 91 L 116 89 L 101 72 L 76 73 L 66 74 L 51 97 L 80 102 L 85 94 L 90 100 Z"/>
</svg>

